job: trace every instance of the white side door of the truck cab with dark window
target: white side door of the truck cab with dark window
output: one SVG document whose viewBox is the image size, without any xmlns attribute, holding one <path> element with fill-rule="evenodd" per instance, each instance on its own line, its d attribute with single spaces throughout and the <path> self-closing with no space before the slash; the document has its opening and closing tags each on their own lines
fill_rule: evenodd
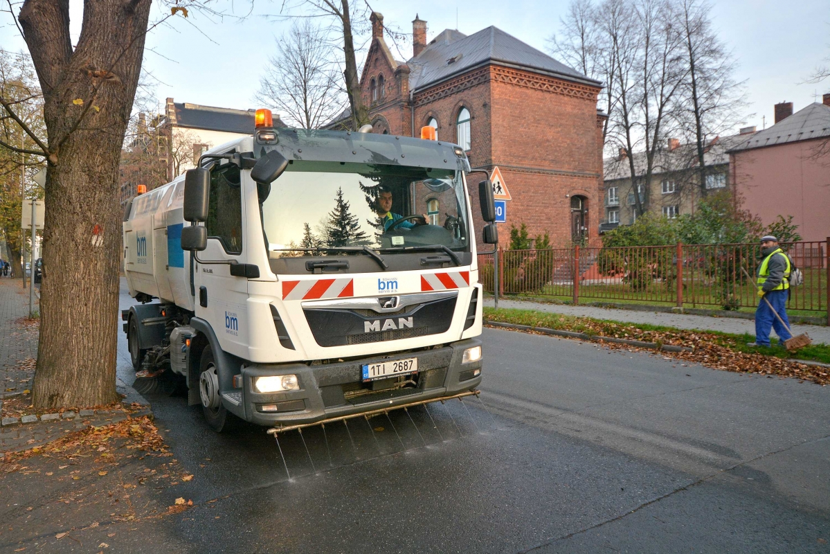
<svg viewBox="0 0 830 554">
<path fill-rule="evenodd" d="M 233 277 L 227 263 L 245 263 L 247 245 L 242 243 L 244 204 L 239 168 L 233 164 L 214 165 L 211 170 L 210 203 L 207 215 L 207 248 L 198 253 L 193 282 L 196 285 L 196 315 L 207 320 L 222 350 L 247 355 L 248 282 Z M 207 301 L 207 302 L 204 302 Z M 205 306 L 206 304 L 207 306 Z"/>
</svg>

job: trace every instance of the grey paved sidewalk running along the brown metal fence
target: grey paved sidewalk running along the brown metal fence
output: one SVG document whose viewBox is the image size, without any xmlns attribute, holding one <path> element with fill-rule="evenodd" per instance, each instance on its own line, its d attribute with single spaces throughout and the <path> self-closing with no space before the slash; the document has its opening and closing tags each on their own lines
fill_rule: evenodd
<svg viewBox="0 0 830 554">
<path fill-rule="evenodd" d="M 493 299 L 486 298 L 485 306 L 493 307 Z M 517 308 L 520 310 L 547 311 L 568 316 L 585 316 L 594 319 L 607 319 L 629 323 L 648 323 L 650 325 L 664 325 L 678 329 L 699 331 L 721 331 L 725 333 L 749 333 L 754 336 L 755 323 L 748 319 L 715 316 L 692 316 L 690 314 L 675 314 L 660 311 L 620 310 L 618 308 L 600 308 L 594 306 L 570 306 L 565 304 L 547 304 L 543 302 L 527 302 L 519 300 L 499 299 L 500 308 Z M 815 325 L 793 325 L 793 335 L 807 333 L 813 342 L 823 342 L 830 345 L 830 327 Z"/>
</svg>

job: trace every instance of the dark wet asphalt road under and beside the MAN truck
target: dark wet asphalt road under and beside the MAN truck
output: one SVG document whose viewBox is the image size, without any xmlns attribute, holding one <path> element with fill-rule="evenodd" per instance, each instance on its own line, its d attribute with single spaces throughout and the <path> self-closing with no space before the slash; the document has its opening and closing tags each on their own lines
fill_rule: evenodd
<svg viewBox="0 0 830 554">
<path fill-rule="evenodd" d="M 279 449 L 262 428 L 214 434 L 185 398 L 150 396 L 195 474 L 169 501 L 196 507 L 144 527 L 131 552 L 830 552 L 830 387 L 484 340 L 482 402 Z"/>
</svg>

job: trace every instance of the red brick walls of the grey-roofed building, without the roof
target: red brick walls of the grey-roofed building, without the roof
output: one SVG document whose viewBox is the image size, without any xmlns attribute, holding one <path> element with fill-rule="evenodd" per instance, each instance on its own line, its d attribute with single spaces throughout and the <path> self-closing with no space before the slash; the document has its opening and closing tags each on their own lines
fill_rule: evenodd
<svg viewBox="0 0 830 554">
<path fill-rule="evenodd" d="M 361 81 L 374 132 L 419 136 L 434 118 L 438 140 L 457 144 L 457 116 L 466 108 L 471 167 L 489 175 L 498 166 L 513 196 L 507 223 L 499 225 L 501 247 L 510 242 L 510 225 L 521 223 L 531 237 L 549 233 L 554 246 L 569 246 L 574 195 L 585 199 L 588 242 L 597 243 L 603 221 L 600 86 L 490 61 L 419 88 L 410 97 L 411 71 L 388 54 L 382 35 L 374 37 Z M 372 102 L 371 79 L 377 83 L 379 75 L 384 76 L 385 95 Z M 477 184 L 484 178 L 484 173 L 471 174 L 467 183 L 479 235 L 483 222 Z M 426 211 L 427 200 L 417 199 L 419 211 Z"/>
</svg>

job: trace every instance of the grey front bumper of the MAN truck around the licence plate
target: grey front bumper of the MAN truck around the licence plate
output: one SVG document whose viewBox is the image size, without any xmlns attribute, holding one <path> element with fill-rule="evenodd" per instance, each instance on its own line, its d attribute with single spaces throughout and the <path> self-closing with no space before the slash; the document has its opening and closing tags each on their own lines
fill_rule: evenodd
<svg viewBox="0 0 830 554">
<path fill-rule="evenodd" d="M 426 351 L 409 351 L 372 355 L 359 360 L 330 364 L 305 365 L 253 364 L 242 368 L 242 405 L 226 404 L 232 412 L 259 425 L 279 426 L 310 424 L 323 419 L 362 414 L 379 408 L 394 408 L 421 400 L 473 390 L 481 383 L 481 361 L 461 364 L 464 351 L 481 346 L 479 339 L 457 341 Z M 349 398 L 349 390 L 362 384 L 361 367 L 364 364 L 402 360 L 417 357 L 417 386 L 397 390 L 378 390 L 371 394 Z M 255 377 L 265 375 L 297 376 L 300 390 L 279 393 L 260 393 L 253 387 Z M 237 393 L 238 398 L 238 393 Z M 278 411 L 263 412 L 263 406 L 276 405 Z"/>
</svg>

